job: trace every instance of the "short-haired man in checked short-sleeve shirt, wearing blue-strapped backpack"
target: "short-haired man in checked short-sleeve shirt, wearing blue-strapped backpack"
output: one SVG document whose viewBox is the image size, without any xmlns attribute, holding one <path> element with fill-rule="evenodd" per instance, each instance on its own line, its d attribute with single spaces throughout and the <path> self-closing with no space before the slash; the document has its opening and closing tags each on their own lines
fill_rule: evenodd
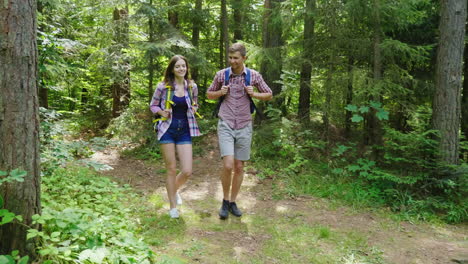
<svg viewBox="0 0 468 264">
<path fill-rule="evenodd" d="M 218 140 L 223 159 L 221 184 L 223 203 L 219 217 L 226 219 L 231 212 L 240 217 L 236 198 L 244 179 L 244 162 L 250 159 L 252 143 L 252 116 L 255 108 L 252 98 L 267 101 L 272 98 L 271 89 L 262 76 L 245 67 L 245 46 L 235 43 L 229 47 L 230 68 L 218 71 L 207 91 L 208 99 L 219 99 Z M 257 88 L 257 92 L 254 91 Z M 252 109 L 251 109 L 252 108 Z M 234 172 L 234 173 L 233 173 Z"/>
</svg>

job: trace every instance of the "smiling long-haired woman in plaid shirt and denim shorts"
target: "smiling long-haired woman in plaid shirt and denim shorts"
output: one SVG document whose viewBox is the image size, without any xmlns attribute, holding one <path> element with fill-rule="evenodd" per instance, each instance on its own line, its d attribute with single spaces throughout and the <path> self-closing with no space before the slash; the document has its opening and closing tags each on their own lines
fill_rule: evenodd
<svg viewBox="0 0 468 264">
<path fill-rule="evenodd" d="M 166 189 L 171 218 L 179 218 L 182 204 L 180 187 L 192 175 L 192 137 L 200 135 L 195 113 L 198 109 L 197 85 L 189 78 L 187 59 L 175 55 L 169 61 L 164 80 L 154 91 L 150 109 L 158 115 L 157 138 L 166 164 Z M 176 152 L 180 172 L 176 169 Z"/>
</svg>

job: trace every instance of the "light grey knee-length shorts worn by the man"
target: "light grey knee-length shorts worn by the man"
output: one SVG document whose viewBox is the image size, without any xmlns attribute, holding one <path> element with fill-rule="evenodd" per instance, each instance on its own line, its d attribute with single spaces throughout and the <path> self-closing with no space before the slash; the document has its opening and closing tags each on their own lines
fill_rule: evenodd
<svg viewBox="0 0 468 264">
<path fill-rule="evenodd" d="M 222 119 L 218 121 L 219 152 L 221 157 L 234 156 L 237 160 L 249 160 L 252 145 L 252 122 L 241 129 L 232 129 Z"/>
</svg>

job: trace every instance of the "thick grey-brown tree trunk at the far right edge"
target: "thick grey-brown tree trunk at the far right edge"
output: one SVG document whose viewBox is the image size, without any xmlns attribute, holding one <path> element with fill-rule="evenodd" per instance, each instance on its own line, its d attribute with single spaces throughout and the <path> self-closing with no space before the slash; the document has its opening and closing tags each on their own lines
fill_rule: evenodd
<svg viewBox="0 0 468 264">
<path fill-rule="evenodd" d="M 440 132 L 440 158 L 448 164 L 459 164 L 466 5 L 466 1 L 460 0 L 441 1 L 432 124 Z"/>
</svg>

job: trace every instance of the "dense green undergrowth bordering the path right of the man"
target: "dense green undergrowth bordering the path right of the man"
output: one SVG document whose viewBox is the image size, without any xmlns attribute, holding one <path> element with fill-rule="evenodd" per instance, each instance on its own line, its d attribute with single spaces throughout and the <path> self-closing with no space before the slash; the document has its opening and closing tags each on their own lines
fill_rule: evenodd
<svg viewBox="0 0 468 264">
<path fill-rule="evenodd" d="M 352 141 L 327 144 L 319 129 L 283 118 L 254 130 L 258 177 L 272 178 L 277 197 L 302 194 L 353 206 L 389 208 L 406 220 L 468 219 L 468 165 L 438 164 L 433 131 L 386 128 L 384 158 L 374 161 Z"/>
</svg>

